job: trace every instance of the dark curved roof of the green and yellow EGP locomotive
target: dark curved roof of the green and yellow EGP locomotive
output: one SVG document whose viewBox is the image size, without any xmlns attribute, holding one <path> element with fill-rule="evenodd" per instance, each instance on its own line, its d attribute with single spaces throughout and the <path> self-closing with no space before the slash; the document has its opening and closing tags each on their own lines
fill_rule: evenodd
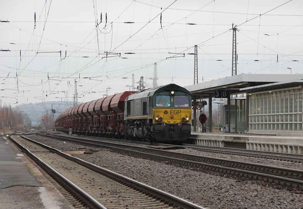
<svg viewBox="0 0 303 209">
<path fill-rule="evenodd" d="M 140 92 L 137 92 L 135 94 L 129 95 L 126 100 L 132 100 L 132 99 L 137 99 L 137 98 L 143 98 L 143 97 L 147 97 L 147 96 L 152 96 L 158 92 L 163 92 L 163 91 L 181 91 L 181 92 L 185 92 L 190 94 L 190 92 L 179 86 L 176 84 L 167 84 L 167 85 L 163 85 L 163 86 L 159 86 L 159 87 L 155 87 L 155 88 L 148 88 L 148 89 L 144 89 Z"/>
</svg>

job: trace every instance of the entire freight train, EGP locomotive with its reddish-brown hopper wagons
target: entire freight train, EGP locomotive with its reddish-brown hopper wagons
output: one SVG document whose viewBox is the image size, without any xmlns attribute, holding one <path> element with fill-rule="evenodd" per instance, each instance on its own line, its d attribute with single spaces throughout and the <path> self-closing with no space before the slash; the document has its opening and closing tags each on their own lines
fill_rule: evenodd
<svg viewBox="0 0 303 209">
<path fill-rule="evenodd" d="M 181 142 L 191 134 L 191 95 L 176 84 L 126 91 L 68 108 L 55 128 L 73 134 Z"/>
</svg>

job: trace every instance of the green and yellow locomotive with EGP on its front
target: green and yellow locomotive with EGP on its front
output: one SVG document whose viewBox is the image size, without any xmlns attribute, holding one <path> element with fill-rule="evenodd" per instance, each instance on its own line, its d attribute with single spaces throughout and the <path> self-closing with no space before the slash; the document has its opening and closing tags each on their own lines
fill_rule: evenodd
<svg viewBox="0 0 303 209">
<path fill-rule="evenodd" d="M 181 142 L 191 133 L 191 95 L 168 84 L 125 99 L 125 138 L 150 142 Z"/>
</svg>

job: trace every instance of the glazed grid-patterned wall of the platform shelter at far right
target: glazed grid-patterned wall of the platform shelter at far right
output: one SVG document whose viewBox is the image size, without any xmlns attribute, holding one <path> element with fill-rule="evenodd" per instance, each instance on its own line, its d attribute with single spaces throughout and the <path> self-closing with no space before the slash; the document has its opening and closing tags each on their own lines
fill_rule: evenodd
<svg viewBox="0 0 303 209">
<path fill-rule="evenodd" d="M 249 129 L 302 131 L 302 88 L 250 95 Z"/>
</svg>

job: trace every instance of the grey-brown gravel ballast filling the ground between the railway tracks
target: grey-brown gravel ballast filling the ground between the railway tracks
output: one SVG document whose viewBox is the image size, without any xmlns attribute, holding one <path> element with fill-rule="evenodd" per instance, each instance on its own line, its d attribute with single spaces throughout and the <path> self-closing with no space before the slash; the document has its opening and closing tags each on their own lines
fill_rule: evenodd
<svg viewBox="0 0 303 209">
<path fill-rule="evenodd" d="M 61 151 L 78 151 L 79 147 L 83 147 L 82 145 L 53 140 L 42 136 L 32 135 L 28 136 L 28 138 Z M 89 149 L 92 149 L 92 147 L 86 147 L 85 150 L 89 151 Z M 250 181 L 242 182 L 232 178 L 196 172 L 147 159 L 124 156 L 122 154 L 112 153 L 106 149 L 95 149 L 101 151 L 90 155 L 74 154 L 73 156 L 206 208 L 303 208 L 303 195 L 293 194 L 285 189 L 278 190 L 264 187 Z M 191 149 L 178 151 L 190 154 L 205 154 L 206 156 L 211 154 L 214 155 L 213 157 L 219 158 L 225 158 L 221 157 L 221 155 L 226 155 Z M 245 162 L 248 161 L 244 159 L 264 160 L 268 161 L 268 163 L 273 162 L 272 160 L 269 161 L 266 159 L 244 158 L 241 156 L 232 157 L 240 157 L 241 161 Z M 235 158 L 233 159 L 235 160 Z M 285 163 L 285 165 L 298 164 L 302 166 L 301 163 L 275 162 Z M 258 163 L 265 164 L 263 162 Z M 268 165 L 275 166 L 274 164 Z"/>
</svg>

